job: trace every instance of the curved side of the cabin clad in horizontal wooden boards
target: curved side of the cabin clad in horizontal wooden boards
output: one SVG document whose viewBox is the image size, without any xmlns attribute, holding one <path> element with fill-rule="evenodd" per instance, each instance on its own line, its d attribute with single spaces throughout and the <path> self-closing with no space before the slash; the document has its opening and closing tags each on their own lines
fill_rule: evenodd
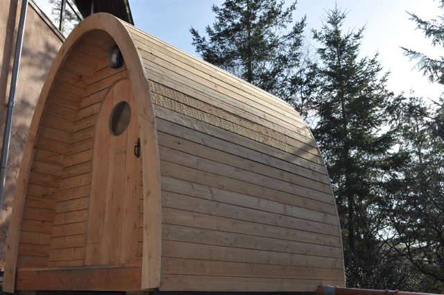
<svg viewBox="0 0 444 295">
<path fill-rule="evenodd" d="M 128 26 L 151 87 L 162 174 L 160 289 L 344 285 L 316 142 L 271 94 Z"/>
</svg>

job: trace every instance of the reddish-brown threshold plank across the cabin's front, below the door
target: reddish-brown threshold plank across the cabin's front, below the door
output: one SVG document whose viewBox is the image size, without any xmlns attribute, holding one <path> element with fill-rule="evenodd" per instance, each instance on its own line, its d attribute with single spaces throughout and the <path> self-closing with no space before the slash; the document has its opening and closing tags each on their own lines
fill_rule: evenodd
<svg viewBox="0 0 444 295">
<path fill-rule="evenodd" d="M 140 267 L 17 271 L 19 290 L 139 291 L 140 284 Z"/>
</svg>

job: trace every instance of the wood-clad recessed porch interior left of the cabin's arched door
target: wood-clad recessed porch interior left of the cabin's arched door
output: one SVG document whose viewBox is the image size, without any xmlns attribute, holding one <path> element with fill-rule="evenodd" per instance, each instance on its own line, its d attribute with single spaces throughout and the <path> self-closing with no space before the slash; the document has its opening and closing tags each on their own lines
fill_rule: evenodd
<svg viewBox="0 0 444 295">
<path fill-rule="evenodd" d="M 89 33 L 59 69 L 45 104 L 28 180 L 17 267 L 83 265 L 94 126 L 126 67 L 108 67 L 111 38 Z"/>
</svg>

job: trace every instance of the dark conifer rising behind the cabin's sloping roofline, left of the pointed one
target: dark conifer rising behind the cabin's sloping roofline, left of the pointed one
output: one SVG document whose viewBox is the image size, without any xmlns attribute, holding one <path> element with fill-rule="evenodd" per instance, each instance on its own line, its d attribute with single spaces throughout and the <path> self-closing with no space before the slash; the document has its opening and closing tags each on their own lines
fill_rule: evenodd
<svg viewBox="0 0 444 295">
<path fill-rule="evenodd" d="M 298 107 L 305 17 L 293 22 L 296 1 L 287 8 L 284 3 L 225 0 L 212 7 L 216 19 L 207 26 L 207 36 L 195 28 L 190 32 L 204 60 Z"/>
</svg>

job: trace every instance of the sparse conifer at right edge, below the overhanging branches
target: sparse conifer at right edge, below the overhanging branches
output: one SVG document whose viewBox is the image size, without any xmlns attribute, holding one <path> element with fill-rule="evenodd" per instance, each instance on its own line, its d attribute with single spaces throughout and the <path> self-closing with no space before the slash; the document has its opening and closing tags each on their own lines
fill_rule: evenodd
<svg viewBox="0 0 444 295">
<path fill-rule="evenodd" d="M 402 103 L 399 153 L 404 162 L 388 187 L 393 248 L 434 280 L 429 284 L 434 292 L 444 288 L 444 142 L 436 124 L 440 109 L 416 97 Z"/>
</svg>

